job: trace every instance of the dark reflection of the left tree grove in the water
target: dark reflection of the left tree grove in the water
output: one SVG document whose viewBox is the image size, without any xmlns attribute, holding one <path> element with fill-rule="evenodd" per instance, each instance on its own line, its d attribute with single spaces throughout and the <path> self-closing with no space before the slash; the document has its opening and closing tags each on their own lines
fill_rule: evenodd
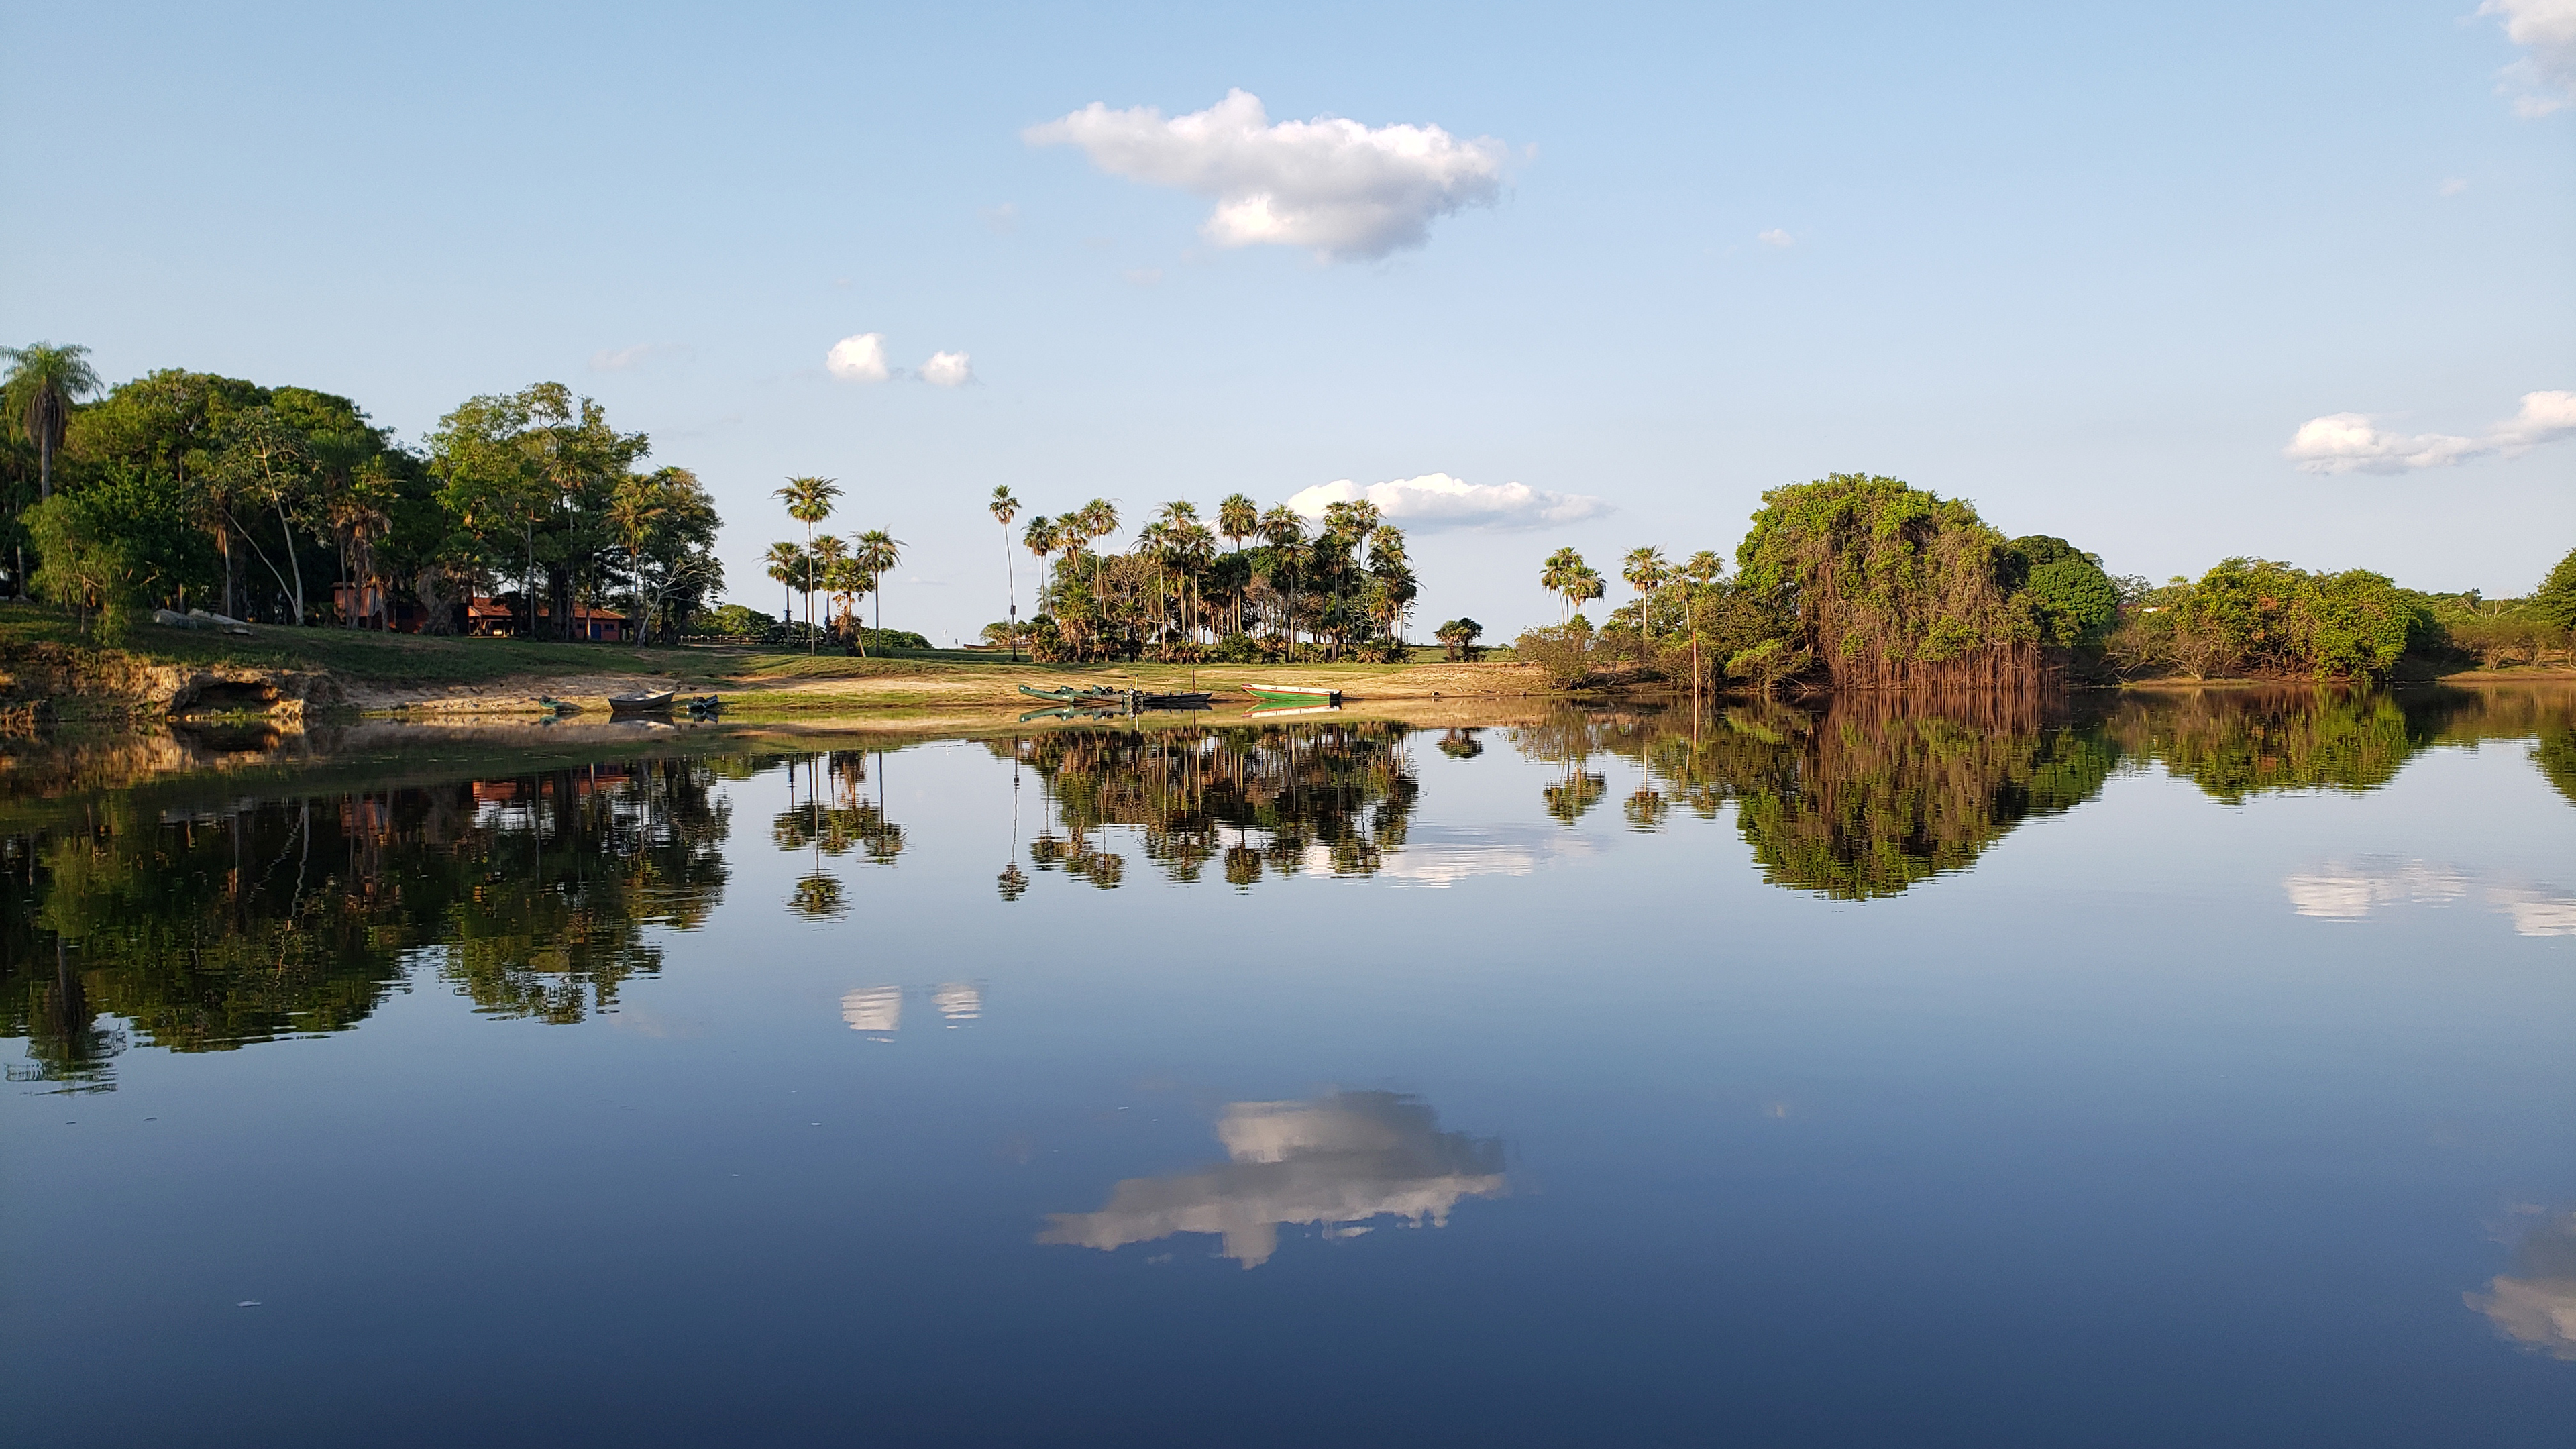
<svg viewBox="0 0 2576 1449">
<path fill-rule="evenodd" d="M 98 1016 L 180 1052 L 340 1031 L 422 951 L 479 1011 L 577 1021 L 659 969 L 644 926 L 721 897 L 711 784 L 644 761 L 152 817 L 108 797 L 5 843 L 0 1031 L 62 1080 Z"/>
</svg>

